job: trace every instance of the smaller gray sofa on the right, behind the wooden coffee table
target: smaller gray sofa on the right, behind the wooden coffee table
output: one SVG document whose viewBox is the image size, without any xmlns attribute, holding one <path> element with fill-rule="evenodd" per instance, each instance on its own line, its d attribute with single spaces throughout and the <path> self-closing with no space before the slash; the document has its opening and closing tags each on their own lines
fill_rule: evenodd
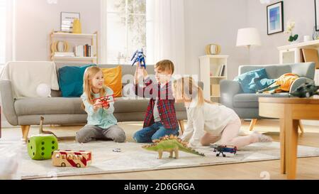
<svg viewBox="0 0 319 194">
<path fill-rule="evenodd" d="M 267 75 L 271 79 L 276 79 L 281 75 L 293 72 L 303 77 L 293 83 L 293 88 L 304 82 L 313 82 L 315 76 L 315 63 L 296 63 L 284 65 L 242 65 L 239 68 L 239 75 L 251 70 L 265 68 Z M 242 88 L 237 81 L 222 80 L 220 82 L 220 102 L 226 107 L 235 110 L 241 119 L 261 119 L 259 117 L 259 97 L 289 97 L 289 93 L 270 94 L 247 94 L 242 92 Z M 269 107 L 271 108 L 271 107 Z"/>
</svg>

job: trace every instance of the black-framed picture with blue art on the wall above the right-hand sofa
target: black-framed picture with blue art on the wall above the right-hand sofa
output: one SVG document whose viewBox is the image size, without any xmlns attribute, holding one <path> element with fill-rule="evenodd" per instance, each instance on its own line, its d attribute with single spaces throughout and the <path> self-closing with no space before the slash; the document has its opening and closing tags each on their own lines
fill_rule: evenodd
<svg viewBox="0 0 319 194">
<path fill-rule="evenodd" d="M 284 2 L 267 6 L 267 34 L 284 31 Z"/>
</svg>

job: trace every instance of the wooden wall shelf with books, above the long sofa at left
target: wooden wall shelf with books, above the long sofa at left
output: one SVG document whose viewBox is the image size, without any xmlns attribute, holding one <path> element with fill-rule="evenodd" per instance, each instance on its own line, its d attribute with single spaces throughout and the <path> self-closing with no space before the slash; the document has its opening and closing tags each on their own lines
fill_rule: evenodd
<svg viewBox="0 0 319 194">
<path fill-rule="evenodd" d="M 65 53 L 71 54 L 74 53 L 74 56 L 71 55 L 55 55 L 55 52 L 52 48 L 53 43 L 57 41 L 66 41 L 69 45 L 69 48 L 65 50 Z M 75 47 L 79 45 L 90 45 L 90 55 L 85 56 L 86 53 L 82 50 L 75 52 Z M 84 48 L 85 50 L 85 48 Z M 81 55 L 79 55 L 80 53 Z M 82 54 L 83 53 L 83 54 Z M 52 31 L 50 33 L 50 60 L 55 62 L 77 62 L 77 63 L 98 63 L 98 33 L 61 33 Z"/>
</svg>

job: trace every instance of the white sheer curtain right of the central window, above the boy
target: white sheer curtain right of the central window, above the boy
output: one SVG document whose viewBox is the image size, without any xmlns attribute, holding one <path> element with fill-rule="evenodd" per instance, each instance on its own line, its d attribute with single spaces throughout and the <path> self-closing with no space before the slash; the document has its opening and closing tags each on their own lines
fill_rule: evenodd
<svg viewBox="0 0 319 194">
<path fill-rule="evenodd" d="M 185 73 L 184 1 L 147 1 L 147 63 L 172 60 L 175 74 Z"/>
</svg>

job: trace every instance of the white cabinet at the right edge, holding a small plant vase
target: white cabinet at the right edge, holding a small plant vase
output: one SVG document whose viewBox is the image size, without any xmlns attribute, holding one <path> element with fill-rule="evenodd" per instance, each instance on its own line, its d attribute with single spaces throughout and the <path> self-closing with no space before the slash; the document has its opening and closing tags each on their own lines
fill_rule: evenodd
<svg viewBox="0 0 319 194">
<path fill-rule="evenodd" d="M 303 57 L 301 49 L 303 48 L 315 48 L 319 50 L 319 40 L 278 47 L 279 63 L 302 63 Z M 315 70 L 315 84 L 319 85 L 319 69 Z"/>
</svg>

